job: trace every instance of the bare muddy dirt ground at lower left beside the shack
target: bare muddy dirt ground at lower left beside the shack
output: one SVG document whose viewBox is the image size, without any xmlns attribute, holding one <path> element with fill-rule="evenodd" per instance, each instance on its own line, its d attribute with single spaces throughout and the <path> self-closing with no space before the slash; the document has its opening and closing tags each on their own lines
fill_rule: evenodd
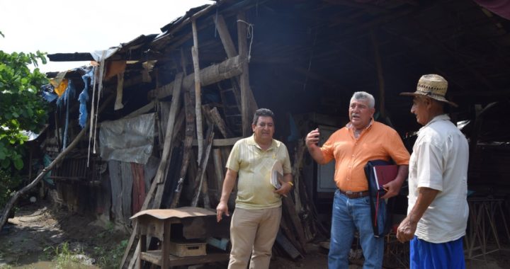
<svg viewBox="0 0 510 269">
<path fill-rule="evenodd" d="M 100 263 L 108 267 L 104 259 L 98 260 L 128 237 L 45 201 L 26 204 L 0 232 L 0 268 L 56 268 L 50 261 L 64 252 L 77 256 L 84 264 L 79 268 L 99 268 Z"/>
</svg>

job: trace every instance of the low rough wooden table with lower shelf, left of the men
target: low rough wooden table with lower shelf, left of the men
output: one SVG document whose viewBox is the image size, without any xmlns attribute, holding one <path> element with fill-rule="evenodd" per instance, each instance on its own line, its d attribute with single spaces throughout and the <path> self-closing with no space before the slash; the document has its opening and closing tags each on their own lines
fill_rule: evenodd
<svg viewBox="0 0 510 269">
<path fill-rule="evenodd" d="M 212 263 L 216 261 L 227 261 L 229 253 L 216 252 L 204 256 L 178 257 L 170 254 L 170 228 L 171 224 L 183 223 L 183 219 L 204 218 L 216 216 L 215 212 L 200 207 L 180 207 L 171 210 L 144 210 L 138 212 L 131 219 L 137 219 L 140 246 L 138 257 L 139 268 L 143 261 L 147 261 L 161 268 L 170 266 L 192 265 L 200 263 Z M 161 241 L 160 250 L 147 250 L 147 236 L 156 237 Z"/>
</svg>

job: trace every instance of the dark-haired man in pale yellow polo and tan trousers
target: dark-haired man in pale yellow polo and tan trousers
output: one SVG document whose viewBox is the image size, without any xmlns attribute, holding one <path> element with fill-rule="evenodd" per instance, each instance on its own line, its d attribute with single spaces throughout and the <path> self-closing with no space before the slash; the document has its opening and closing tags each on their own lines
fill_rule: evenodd
<svg viewBox="0 0 510 269">
<path fill-rule="evenodd" d="M 254 134 L 234 144 L 227 161 L 222 196 L 217 205 L 217 221 L 229 216 L 227 201 L 237 176 L 237 198 L 230 222 L 229 269 L 269 268 L 271 248 L 281 219 L 281 196 L 293 186 L 287 147 L 273 139 L 274 114 L 260 108 L 251 123 Z M 271 184 L 271 169 L 278 162 L 283 168 L 281 187 Z M 251 260 L 250 260 L 251 255 Z"/>
</svg>

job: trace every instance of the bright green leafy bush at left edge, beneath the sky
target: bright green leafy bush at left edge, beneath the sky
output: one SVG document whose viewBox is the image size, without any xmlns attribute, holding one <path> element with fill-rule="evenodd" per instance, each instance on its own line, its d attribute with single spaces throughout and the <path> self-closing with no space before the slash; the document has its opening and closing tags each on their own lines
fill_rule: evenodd
<svg viewBox="0 0 510 269">
<path fill-rule="evenodd" d="M 38 132 L 47 119 L 49 108 L 41 96 L 48 83 L 38 68 L 30 64 L 46 63 L 44 53 L 6 53 L 0 50 L 0 168 L 23 168 L 25 142 L 23 131 Z"/>
</svg>

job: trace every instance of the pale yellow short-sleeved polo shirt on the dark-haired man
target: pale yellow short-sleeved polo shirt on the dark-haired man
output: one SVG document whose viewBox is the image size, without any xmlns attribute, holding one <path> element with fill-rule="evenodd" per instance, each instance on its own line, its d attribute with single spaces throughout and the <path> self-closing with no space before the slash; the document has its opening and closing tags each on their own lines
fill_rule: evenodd
<svg viewBox="0 0 510 269">
<path fill-rule="evenodd" d="M 241 139 L 234 144 L 227 161 L 227 168 L 237 171 L 236 207 L 245 210 L 259 210 L 281 206 L 280 195 L 274 193 L 271 185 L 271 168 L 280 161 L 283 173 L 291 173 L 287 147 L 273 139 L 271 147 L 261 149 L 254 136 Z"/>
</svg>

